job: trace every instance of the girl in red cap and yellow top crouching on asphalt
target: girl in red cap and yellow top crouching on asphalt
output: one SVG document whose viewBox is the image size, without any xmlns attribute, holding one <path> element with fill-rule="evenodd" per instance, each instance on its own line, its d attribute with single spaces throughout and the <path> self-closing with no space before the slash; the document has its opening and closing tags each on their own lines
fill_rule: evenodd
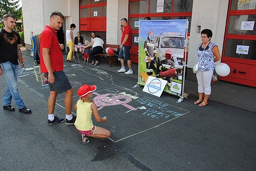
<svg viewBox="0 0 256 171">
<path fill-rule="evenodd" d="M 91 100 L 93 97 L 93 91 L 96 90 L 95 85 L 82 85 L 77 94 L 81 96 L 75 104 L 75 110 L 77 110 L 77 119 L 75 120 L 75 127 L 82 134 L 82 142 L 88 143 L 88 137 L 95 138 L 108 138 L 110 136 L 110 131 L 106 130 L 100 126 L 94 126 L 91 120 L 91 115 L 93 114 L 98 122 L 106 122 L 108 119 L 106 117 L 101 118 L 98 113 L 98 108 L 96 104 Z"/>
</svg>

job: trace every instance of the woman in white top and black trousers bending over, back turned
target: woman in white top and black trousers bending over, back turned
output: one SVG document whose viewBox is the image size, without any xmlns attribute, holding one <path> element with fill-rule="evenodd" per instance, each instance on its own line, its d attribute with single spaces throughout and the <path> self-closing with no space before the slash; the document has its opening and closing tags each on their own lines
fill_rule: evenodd
<svg viewBox="0 0 256 171">
<path fill-rule="evenodd" d="M 87 47 L 90 47 L 91 45 L 93 45 L 93 50 L 91 50 L 91 51 L 89 52 L 90 59 L 93 61 L 93 62 L 91 63 L 91 65 L 96 66 L 96 65 L 99 64 L 97 54 L 103 52 L 103 44 L 104 44 L 104 41 L 100 38 L 100 36 L 97 35 L 97 36 L 90 42 L 89 45 L 85 46 L 85 48 L 87 48 Z"/>
</svg>

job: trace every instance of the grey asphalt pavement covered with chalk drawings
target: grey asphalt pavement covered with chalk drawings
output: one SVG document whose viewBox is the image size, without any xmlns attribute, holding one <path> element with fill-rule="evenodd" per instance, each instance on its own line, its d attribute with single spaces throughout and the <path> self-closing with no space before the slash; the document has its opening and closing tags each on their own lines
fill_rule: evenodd
<svg viewBox="0 0 256 171">
<path fill-rule="evenodd" d="M 81 84 L 95 84 L 94 101 L 110 130 L 109 139 L 90 138 L 84 145 L 74 126 L 47 125 L 47 84 L 36 81 L 33 59 L 24 50 L 26 71 L 18 90 L 32 114 L 0 108 L 0 170 L 256 170 L 256 90 L 217 81 L 205 107 L 197 100 L 195 76 L 188 71 L 189 99 L 146 94 L 134 74 L 117 73 L 102 59 L 97 67 L 67 63 L 64 71 L 74 88 L 73 106 Z M 37 68 L 38 73 L 38 68 Z M 39 77 L 40 80 L 40 77 Z M 6 80 L 0 76 L 2 99 Z M 58 95 L 55 114 L 64 117 L 64 94 Z M 72 112 L 75 114 L 75 110 Z"/>
</svg>

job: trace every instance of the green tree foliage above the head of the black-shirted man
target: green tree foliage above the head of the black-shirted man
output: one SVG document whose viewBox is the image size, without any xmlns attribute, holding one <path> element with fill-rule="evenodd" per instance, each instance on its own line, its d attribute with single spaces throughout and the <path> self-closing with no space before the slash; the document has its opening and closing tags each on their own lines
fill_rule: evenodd
<svg viewBox="0 0 256 171">
<path fill-rule="evenodd" d="M 20 20 L 22 10 L 18 5 L 19 2 L 20 0 L 0 0 L 0 20 L 2 21 L 5 14 L 13 14 L 17 20 Z"/>
</svg>

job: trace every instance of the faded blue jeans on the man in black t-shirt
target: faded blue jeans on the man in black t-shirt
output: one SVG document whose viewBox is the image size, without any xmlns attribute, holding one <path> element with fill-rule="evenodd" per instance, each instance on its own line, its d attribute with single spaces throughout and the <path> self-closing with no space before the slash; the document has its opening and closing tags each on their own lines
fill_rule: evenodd
<svg viewBox="0 0 256 171">
<path fill-rule="evenodd" d="M 3 106 L 8 106 L 14 99 L 18 108 L 25 107 L 23 100 L 21 99 L 20 94 L 18 93 L 17 79 L 18 79 L 18 70 L 19 65 L 14 65 L 11 62 L 6 62 L 1 64 L 3 70 L 3 75 L 7 81 L 7 88 L 5 95 L 3 96 Z"/>
</svg>

